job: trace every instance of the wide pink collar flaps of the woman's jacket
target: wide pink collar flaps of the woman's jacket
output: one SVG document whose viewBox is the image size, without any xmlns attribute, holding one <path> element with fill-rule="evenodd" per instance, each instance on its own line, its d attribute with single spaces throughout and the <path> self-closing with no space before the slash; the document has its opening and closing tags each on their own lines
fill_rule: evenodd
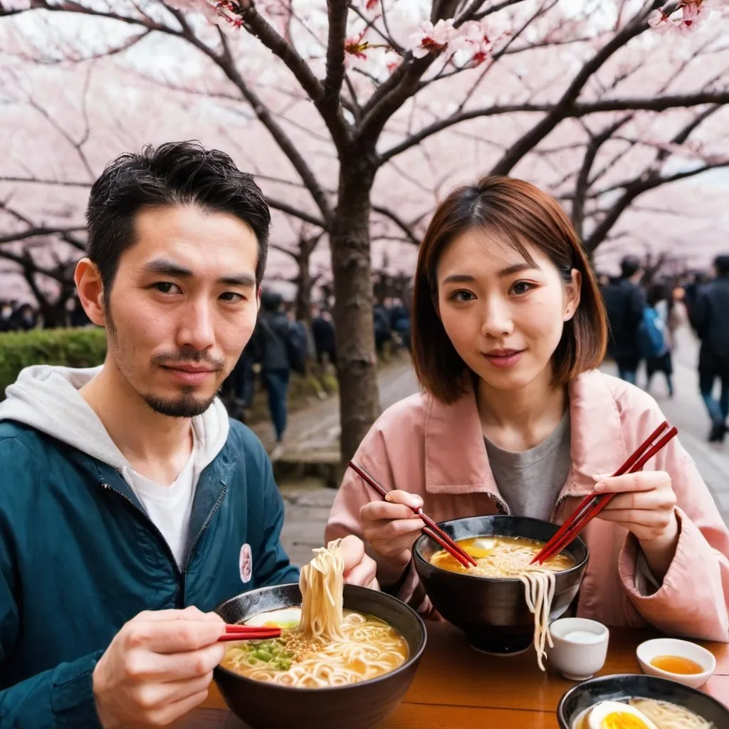
<svg viewBox="0 0 729 729">
<path fill-rule="evenodd" d="M 488 464 L 486 445 L 471 390 L 444 405 L 426 396 L 425 485 L 431 494 L 491 494 L 502 500 Z M 596 474 L 610 473 L 628 457 L 620 412 L 606 375 L 579 375 L 569 385 L 572 468 L 559 500 L 592 491 Z"/>
</svg>

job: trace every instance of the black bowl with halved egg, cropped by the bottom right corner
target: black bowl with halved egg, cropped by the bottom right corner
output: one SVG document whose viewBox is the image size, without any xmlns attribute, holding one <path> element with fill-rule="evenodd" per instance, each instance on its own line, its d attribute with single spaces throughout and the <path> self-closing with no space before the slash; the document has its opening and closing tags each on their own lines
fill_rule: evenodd
<svg viewBox="0 0 729 729">
<path fill-rule="evenodd" d="M 574 729 L 574 722 L 580 714 L 596 703 L 625 701 L 628 698 L 669 701 L 683 706 L 707 722 L 712 722 L 715 729 L 729 727 L 729 709 L 695 688 L 644 674 L 617 674 L 589 679 L 573 686 L 557 706 L 560 729 Z"/>
</svg>

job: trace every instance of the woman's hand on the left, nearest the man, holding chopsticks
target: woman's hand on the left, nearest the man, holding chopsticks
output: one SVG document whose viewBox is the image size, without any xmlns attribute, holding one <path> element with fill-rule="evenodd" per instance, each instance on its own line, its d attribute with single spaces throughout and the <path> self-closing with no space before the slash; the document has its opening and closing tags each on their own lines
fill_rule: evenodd
<svg viewBox="0 0 729 729">
<path fill-rule="evenodd" d="M 410 547 L 425 523 L 413 513 L 423 505 L 420 496 L 394 490 L 388 492 L 386 499 L 364 504 L 359 510 L 359 520 L 364 539 L 389 563 L 388 574 L 383 574 L 384 582 L 388 584 L 397 582 L 410 562 Z"/>
</svg>

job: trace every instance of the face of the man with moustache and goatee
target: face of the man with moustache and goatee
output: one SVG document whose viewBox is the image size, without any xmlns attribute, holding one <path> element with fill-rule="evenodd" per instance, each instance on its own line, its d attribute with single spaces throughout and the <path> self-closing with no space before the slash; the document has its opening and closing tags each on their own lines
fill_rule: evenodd
<svg viewBox="0 0 729 729">
<path fill-rule="evenodd" d="M 258 242 L 233 215 L 145 208 L 109 294 L 111 359 L 150 408 L 203 413 L 256 322 Z"/>
</svg>

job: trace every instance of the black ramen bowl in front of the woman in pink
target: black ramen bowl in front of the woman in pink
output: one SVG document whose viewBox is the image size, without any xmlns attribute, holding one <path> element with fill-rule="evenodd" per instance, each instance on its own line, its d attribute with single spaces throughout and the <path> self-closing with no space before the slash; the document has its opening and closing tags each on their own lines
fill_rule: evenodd
<svg viewBox="0 0 729 729">
<path fill-rule="evenodd" d="M 473 516 L 438 523 L 452 539 L 498 536 L 549 541 L 558 526 L 548 521 L 518 516 Z M 430 564 L 440 550 L 423 534 L 413 547 L 413 561 L 428 597 L 440 615 L 466 632 L 477 650 L 509 655 L 529 648 L 534 640 L 534 615 L 529 612 L 524 585 L 518 579 L 475 577 L 450 572 Z M 566 552 L 575 565 L 555 573 L 555 595 L 550 621 L 560 617 L 580 589 L 589 550 L 577 537 Z"/>
</svg>

